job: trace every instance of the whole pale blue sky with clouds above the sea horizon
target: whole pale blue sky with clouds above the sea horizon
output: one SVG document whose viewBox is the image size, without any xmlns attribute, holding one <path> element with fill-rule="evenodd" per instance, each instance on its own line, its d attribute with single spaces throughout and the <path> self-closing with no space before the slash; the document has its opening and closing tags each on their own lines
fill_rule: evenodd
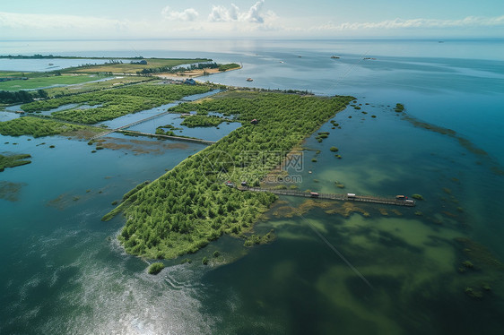
<svg viewBox="0 0 504 335">
<path fill-rule="evenodd" d="M 492 37 L 503 0 L 0 1 L 0 40 Z"/>
</svg>

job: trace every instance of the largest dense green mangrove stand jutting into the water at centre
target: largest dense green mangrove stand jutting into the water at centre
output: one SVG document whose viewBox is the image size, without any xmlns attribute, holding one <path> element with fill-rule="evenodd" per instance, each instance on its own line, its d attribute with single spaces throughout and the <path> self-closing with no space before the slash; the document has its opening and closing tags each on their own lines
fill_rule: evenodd
<svg viewBox="0 0 504 335">
<path fill-rule="evenodd" d="M 127 253 L 150 259 L 196 253 L 222 235 L 246 238 L 276 195 L 241 192 L 224 182 L 259 185 L 293 147 L 352 99 L 237 90 L 172 107 L 178 113 L 232 115 L 242 126 L 128 193 L 103 220 L 123 211 L 126 226 L 118 236 L 120 243 Z M 258 122 L 251 123 L 254 119 Z M 271 238 L 254 236 L 248 245 Z"/>
</svg>

